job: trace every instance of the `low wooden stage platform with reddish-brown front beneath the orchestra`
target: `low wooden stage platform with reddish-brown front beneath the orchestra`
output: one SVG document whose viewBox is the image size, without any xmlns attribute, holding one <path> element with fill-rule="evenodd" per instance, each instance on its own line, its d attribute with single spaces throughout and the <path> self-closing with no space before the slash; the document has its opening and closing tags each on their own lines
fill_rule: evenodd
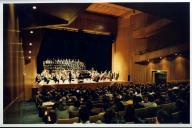
<svg viewBox="0 0 192 128">
<path fill-rule="evenodd" d="M 51 90 L 51 89 L 78 89 L 86 88 L 94 90 L 99 87 L 107 87 L 113 84 L 127 85 L 128 81 L 107 81 L 107 82 L 90 82 L 90 83 L 69 83 L 69 84 L 53 84 L 53 85 L 35 85 L 32 88 L 32 95 L 36 94 L 38 90 Z"/>
</svg>

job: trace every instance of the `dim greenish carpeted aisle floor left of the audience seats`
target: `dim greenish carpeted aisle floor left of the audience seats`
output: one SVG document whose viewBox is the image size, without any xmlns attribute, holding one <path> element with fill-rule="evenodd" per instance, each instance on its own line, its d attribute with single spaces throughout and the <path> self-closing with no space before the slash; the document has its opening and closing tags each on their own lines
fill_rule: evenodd
<svg viewBox="0 0 192 128">
<path fill-rule="evenodd" d="M 43 124 L 33 101 L 15 103 L 4 113 L 4 124 Z"/>
</svg>

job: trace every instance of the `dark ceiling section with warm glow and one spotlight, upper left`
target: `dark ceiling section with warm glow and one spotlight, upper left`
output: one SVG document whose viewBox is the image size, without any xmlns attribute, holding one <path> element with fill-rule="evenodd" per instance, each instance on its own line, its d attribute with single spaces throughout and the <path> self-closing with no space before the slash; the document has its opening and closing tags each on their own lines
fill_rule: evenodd
<svg viewBox="0 0 192 128">
<path fill-rule="evenodd" d="M 89 4 L 81 3 L 46 3 L 15 4 L 22 29 L 29 27 L 70 24 Z M 33 6 L 37 9 L 33 10 Z"/>
</svg>

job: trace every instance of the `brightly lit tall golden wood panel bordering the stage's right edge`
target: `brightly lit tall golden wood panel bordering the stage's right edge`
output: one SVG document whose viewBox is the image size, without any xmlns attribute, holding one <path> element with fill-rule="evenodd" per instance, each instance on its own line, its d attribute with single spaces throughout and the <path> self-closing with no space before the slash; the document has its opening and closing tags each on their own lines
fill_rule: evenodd
<svg viewBox="0 0 192 128">
<path fill-rule="evenodd" d="M 125 23 L 126 24 L 123 24 Z M 130 38 L 124 38 L 129 34 L 130 30 L 130 21 L 126 19 L 119 20 L 117 38 L 115 42 L 115 53 L 113 55 L 113 71 L 120 73 L 120 80 L 127 80 L 129 74 L 129 63 L 128 60 L 131 60 L 129 54 L 129 42 Z M 122 43 L 119 43 L 122 42 Z M 121 50 L 120 50 L 121 49 Z"/>
</svg>

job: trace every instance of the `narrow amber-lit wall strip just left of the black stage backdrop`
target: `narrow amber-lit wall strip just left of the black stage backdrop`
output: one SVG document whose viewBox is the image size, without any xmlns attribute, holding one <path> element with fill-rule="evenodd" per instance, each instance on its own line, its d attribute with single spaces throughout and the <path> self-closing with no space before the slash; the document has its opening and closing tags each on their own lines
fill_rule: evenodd
<svg viewBox="0 0 192 128">
<path fill-rule="evenodd" d="M 41 41 L 43 38 L 42 30 L 34 30 L 33 34 L 30 31 L 22 31 L 22 37 L 24 42 L 24 49 L 26 51 L 26 59 L 30 56 L 29 63 L 25 63 L 25 100 L 31 99 L 32 88 L 35 85 L 35 78 L 37 74 L 37 55 L 39 53 Z M 29 42 L 32 46 L 29 46 Z M 28 51 L 31 51 L 29 54 Z"/>
</svg>

